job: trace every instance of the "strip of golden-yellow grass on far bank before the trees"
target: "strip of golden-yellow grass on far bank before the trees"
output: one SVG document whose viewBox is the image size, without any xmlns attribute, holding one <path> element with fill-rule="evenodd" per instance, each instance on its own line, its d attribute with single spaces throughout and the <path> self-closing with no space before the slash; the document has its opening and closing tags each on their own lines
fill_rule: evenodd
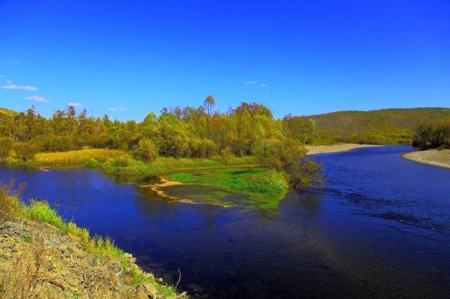
<svg viewBox="0 0 450 299">
<path fill-rule="evenodd" d="M 34 156 L 34 164 L 85 164 L 93 158 L 104 162 L 110 158 L 123 156 L 120 150 L 86 149 L 69 152 L 40 152 Z"/>
</svg>

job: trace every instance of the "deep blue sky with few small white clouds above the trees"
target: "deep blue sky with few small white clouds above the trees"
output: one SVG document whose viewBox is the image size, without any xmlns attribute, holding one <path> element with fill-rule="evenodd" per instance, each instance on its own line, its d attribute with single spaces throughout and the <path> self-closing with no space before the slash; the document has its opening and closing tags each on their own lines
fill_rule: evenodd
<svg viewBox="0 0 450 299">
<path fill-rule="evenodd" d="M 0 107 L 449 107 L 448 0 L 217 2 L 0 0 Z"/>
</svg>

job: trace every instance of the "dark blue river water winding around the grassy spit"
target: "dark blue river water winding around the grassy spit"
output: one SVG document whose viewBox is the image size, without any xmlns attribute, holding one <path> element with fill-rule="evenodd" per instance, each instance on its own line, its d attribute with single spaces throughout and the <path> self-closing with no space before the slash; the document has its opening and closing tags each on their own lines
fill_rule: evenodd
<svg viewBox="0 0 450 299">
<path fill-rule="evenodd" d="M 401 157 L 411 150 L 315 155 L 325 185 L 274 211 L 168 201 L 88 168 L 0 168 L 0 180 L 169 283 L 180 270 L 198 298 L 450 298 L 450 169 Z"/>
</svg>

